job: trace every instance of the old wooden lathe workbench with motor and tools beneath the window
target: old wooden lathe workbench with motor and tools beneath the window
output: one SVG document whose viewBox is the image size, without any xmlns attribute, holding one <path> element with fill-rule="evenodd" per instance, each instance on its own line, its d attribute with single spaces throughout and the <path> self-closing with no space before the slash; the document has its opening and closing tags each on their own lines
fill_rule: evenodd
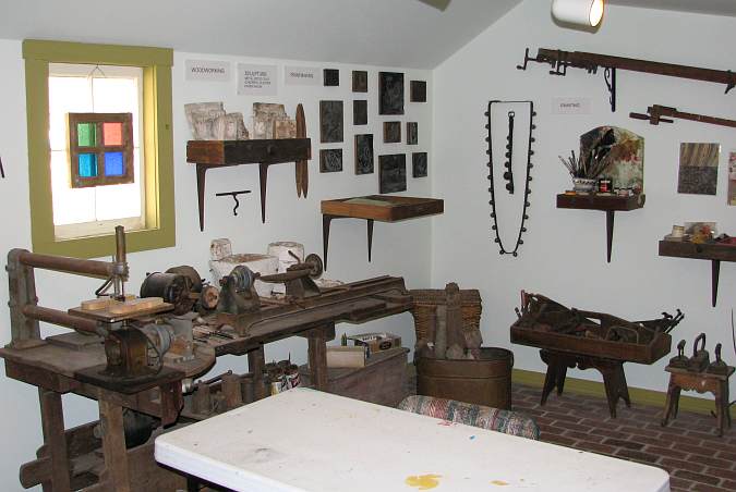
<svg viewBox="0 0 736 492">
<path fill-rule="evenodd" d="M 237 267 L 219 291 L 203 287 L 194 269 L 178 267 L 149 275 L 145 299 L 130 300 L 122 227 L 111 262 L 10 251 L 12 341 L 0 356 L 8 377 L 38 386 L 44 431 L 36 459 L 21 467 L 21 484 L 55 492 L 186 488 L 184 477 L 156 465 L 152 435 L 265 397 L 263 347 L 270 342 L 306 337 L 312 384 L 326 389 L 326 342 L 335 324 L 410 311 L 412 298 L 394 276 L 321 290 L 311 280 L 318 267 L 306 261 L 262 278 Z M 102 308 L 41 307 L 34 269 L 102 278 L 114 293 L 101 298 Z M 286 298 L 258 298 L 255 279 L 286 283 Z M 142 303 L 149 298 L 158 302 Z M 135 303 L 142 308 L 126 311 Z M 74 331 L 43 337 L 39 321 Z M 225 354 L 248 355 L 250 373 L 194 382 Z M 99 421 L 65 429 L 64 393 L 96 399 Z"/>
</svg>

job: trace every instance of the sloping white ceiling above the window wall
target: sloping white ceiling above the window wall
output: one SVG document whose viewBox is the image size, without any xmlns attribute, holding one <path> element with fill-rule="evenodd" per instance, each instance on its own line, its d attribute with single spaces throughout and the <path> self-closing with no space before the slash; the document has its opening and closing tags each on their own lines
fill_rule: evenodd
<svg viewBox="0 0 736 492">
<path fill-rule="evenodd" d="M 431 69 L 519 0 L 0 0 L 0 38 Z"/>
</svg>

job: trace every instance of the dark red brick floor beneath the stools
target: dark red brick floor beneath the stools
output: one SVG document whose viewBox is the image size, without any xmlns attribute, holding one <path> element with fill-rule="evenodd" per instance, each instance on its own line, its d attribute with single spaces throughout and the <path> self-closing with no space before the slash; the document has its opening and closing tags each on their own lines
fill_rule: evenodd
<svg viewBox="0 0 736 492">
<path fill-rule="evenodd" d="M 604 397 L 553 393 L 541 407 L 540 396 L 514 385 L 514 409 L 536 420 L 542 441 L 664 468 L 673 492 L 736 490 L 736 426 L 719 438 L 708 415 L 680 410 L 663 428 L 659 407 L 619 402 L 612 419 Z"/>
</svg>

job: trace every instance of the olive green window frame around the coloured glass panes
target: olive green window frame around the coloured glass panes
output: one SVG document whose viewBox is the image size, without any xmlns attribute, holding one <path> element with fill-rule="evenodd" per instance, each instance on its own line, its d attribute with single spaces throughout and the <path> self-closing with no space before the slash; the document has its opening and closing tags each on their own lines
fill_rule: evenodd
<svg viewBox="0 0 736 492">
<path fill-rule="evenodd" d="M 171 124 L 173 51 L 168 48 L 26 39 L 23 41 L 23 58 L 33 250 L 79 258 L 98 258 L 114 251 L 114 231 L 110 234 L 72 239 L 57 239 L 55 236 L 48 139 L 49 63 L 87 63 L 143 69 L 145 227 L 125 233 L 125 244 L 129 251 L 174 246 Z"/>
</svg>

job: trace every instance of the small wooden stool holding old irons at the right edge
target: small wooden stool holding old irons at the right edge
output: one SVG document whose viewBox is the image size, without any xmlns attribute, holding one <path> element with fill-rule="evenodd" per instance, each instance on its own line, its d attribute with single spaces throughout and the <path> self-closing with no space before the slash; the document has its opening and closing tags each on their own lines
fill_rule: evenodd
<svg viewBox="0 0 736 492">
<path fill-rule="evenodd" d="M 664 404 L 662 427 L 667 425 L 671 416 L 673 419 L 677 417 L 680 390 L 697 391 L 698 393 L 710 392 L 715 396 L 715 418 L 717 419 L 719 436 L 722 436 L 724 422 L 731 428 L 728 378 L 735 369 L 728 366 L 728 371 L 725 374 L 693 372 L 671 366 L 665 367 L 664 370 L 669 372 L 669 385 L 667 386 L 667 401 Z"/>
</svg>

